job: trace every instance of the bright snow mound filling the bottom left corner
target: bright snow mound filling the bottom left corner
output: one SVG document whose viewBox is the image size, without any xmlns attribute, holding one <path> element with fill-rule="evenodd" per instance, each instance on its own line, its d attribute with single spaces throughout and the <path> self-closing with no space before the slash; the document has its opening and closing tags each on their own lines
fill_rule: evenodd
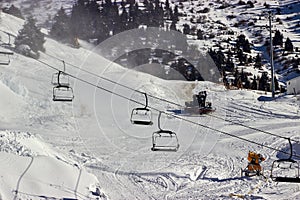
<svg viewBox="0 0 300 200">
<path fill-rule="evenodd" d="M 0 199 L 105 199 L 97 178 L 28 132 L 0 132 Z"/>
</svg>

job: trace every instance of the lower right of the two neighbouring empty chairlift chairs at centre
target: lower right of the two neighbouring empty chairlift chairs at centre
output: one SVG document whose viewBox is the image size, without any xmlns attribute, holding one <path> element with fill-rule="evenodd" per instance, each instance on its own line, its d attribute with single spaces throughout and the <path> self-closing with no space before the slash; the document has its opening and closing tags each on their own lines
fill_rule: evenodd
<svg viewBox="0 0 300 200">
<path fill-rule="evenodd" d="M 152 134 L 152 151 L 174 151 L 179 149 L 179 142 L 175 132 L 163 130 L 160 127 L 161 112 L 158 115 L 159 130 Z"/>
</svg>

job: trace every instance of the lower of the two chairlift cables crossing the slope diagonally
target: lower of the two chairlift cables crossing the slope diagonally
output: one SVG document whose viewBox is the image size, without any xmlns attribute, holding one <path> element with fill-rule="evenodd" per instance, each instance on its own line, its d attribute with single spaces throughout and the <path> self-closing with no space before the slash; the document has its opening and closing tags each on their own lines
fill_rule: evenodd
<svg viewBox="0 0 300 200">
<path fill-rule="evenodd" d="M 38 59 L 36 59 L 36 60 L 37 60 L 38 62 L 44 64 L 44 65 L 47 66 L 47 67 L 50 67 L 50 68 L 52 68 L 52 69 L 54 69 L 54 70 L 58 70 L 56 67 L 53 67 L 53 66 L 51 66 L 50 64 L 48 64 L 48 63 L 46 63 L 46 62 L 44 62 L 44 61 L 41 61 L 41 60 L 38 60 Z M 59 70 L 58 70 L 58 71 L 59 71 Z M 79 80 L 79 81 L 81 81 L 81 82 L 84 82 L 84 83 L 86 83 L 86 84 L 88 84 L 88 85 L 90 85 L 90 86 L 96 87 L 96 88 L 98 88 L 98 89 L 101 89 L 101 90 L 106 91 L 106 92 L 108 92 L 108 93 L 111 93 L 111 94 L 113 94 L 113 95 L 119 96 L 119 97 L 124 98 L 124 99 L 126 99 L 126 100 L 128 100 L 128 101 L 134 102 L 134 103 L 139 104 L 139 105 L 144 105 L 143 103 L 140 103 L 140 102 L 138 102 L 138 101 L 136 101 L 136 100 L 134 100 L 134 99 L 131 99 L 131 98 L 128 98 L 128 97 L 126 97 L 126 96 L 123 96 L 123 95 L 121 95 L 121 94 L 119 94 L 119 93 L 113 92 L 113 91 L 111 91 L 111 90 L 109 90 L 109 89 L 106 89 L 106 88 L 104 88 L 104 87 L 101 87 L 101 86 L 99 86 L 99 85 L 96 85 L 96 84 L 94 84 L 94 83 L 91 83 L 91 82 L 89 82 L 89 81 L 87 81 L 87 80 L 84 80 L 84 79 L 79 78 L 79 77 L 77 77 L 77 76 L 74 76 L 74 75 L 72 75 L 72 74 L 69 74 L 69 73 L 65 73 L 65 74 L 68 75 L 68 76 L 70 76 L 70 77 L 72 77 L 72 78 L 74 78 L 74 79 L 77 79 L 77 80 Z M 218 130 L 218 129 L 216 129 L 216 128 L 212 128 L 212 127 L 210 127 L 210 126 L 203 125 L 203 124 L 200 124 L 200 123 L 197 123 L 197 122 L 188 120 L 188 119 L 183 118 L 183 117 L 180 117 L 180 116 L 178 116 L 178 115 L 173 115 L 173 114 L 167 113 L 167 112 L 165 112 L 165 111 L 161 111 L 161 110 L 159 110 L 159 109 L 157 109 L 157 108 L 155 108 L 155 107 L 152 107 L 152 106 L 148 106 L 148 107 L 151 108 L 151 109 L 153 109 L 153 110 L 155 110 L 155 111 L 157 111 L 157 112 L 164 113 L 164 114 L 166 114 L 167 116 L 171 116 L 171 117 L 177 118 L 177 119 L 179 119 L 179 120 L 182 120 L 182 121 L 185 121 L 185 122 L 188 122 L 188 123 L 197 125 L 197 126 L 201 126 L 201 127 L 203 127 L 203 128 L 212 130 L 212 131 L 214 131 L 214 132 L 219 132 L 219 133 L 224 134 L 224 135 L 227 135 L 227 136 L 229 136 L 229 137 L 233 137 L 233 138 L 236 138 L 236 139 L 239 139 L 239 140 L 243 140 L 243 141 L 248 142 L 248 143 L 252 143 L 252 144 L 256 144 L 256 145 L 258 145 L 258 146 L 262 146 L 262 147 L 268 148 L 268 149 L 270 149 L 270 150 L 274 150 L 274 151 L 277 151 L 277 152 L 280 152 L 280 153 L 283 153 L 283 154 L 288 154 L 288 155 L 290 155 L 290 153 L 287 153 L 287 152 L 285 152 L 285 151 L 283 151 L 283 150 L 280 150 L 280 149 L 277 149 L 277 148 L 274 148 L 274 147 L 270 147 L 270 146 L 267 146 L 267 145 L 264 145 L 264 144 L 261 144 L 261 143 L 258 143 L 258 142 L 255 142 L 255 141 L 252 141 L 252 140 L 249 140 L 249 139 L 246 139 L 246 138 L 237 136 L 237 135 L 233 135 L 233 134 L 231 134 L 231 133 L 227 133 L 227 132 L 225 132 L 225 131 L 221 131 L 221 130 Z M 294 154 L 293 157 L 299 158 L 299 159 L 300 159 L 300 155 L 298 155 L 298 154 L 296 154 L 296 155 Z"/>
</svg>

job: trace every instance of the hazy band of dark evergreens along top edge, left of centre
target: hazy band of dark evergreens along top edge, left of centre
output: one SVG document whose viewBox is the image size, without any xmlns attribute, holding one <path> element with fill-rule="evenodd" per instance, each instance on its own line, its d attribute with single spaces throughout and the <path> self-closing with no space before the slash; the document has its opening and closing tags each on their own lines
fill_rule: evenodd
<svg viewBox="0 0 300 200">
<path fill-rule="evenodd" d="M 145 0 L 142 6 L 134 0 L 97 2 L 78 0 L 69 14 L 61 8 L 53 19 L 50 35 L 66 42 L 80 38 L 99 44 L 112 35 L 140 25 L 164 27 L 164 20 L 171 20 L 168 28 L 176 29 L 178 8 L 172 9 L 168 0 L 164 6 L 159 0 Z"/>
</svg>

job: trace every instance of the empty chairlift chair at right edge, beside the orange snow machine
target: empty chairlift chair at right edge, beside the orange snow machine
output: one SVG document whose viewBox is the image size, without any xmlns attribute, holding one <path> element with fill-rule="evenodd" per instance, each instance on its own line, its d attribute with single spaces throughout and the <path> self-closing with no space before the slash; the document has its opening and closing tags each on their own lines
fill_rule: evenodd
<svg viewBox="0 0 300 200">
<path fill-rule="evenodd" d="M 299 163 L 292 159 L 293 146 L 290 138 L 287 138 L 290 145 L 290 155 L 286 159 L 275 160 L 271 167 L 271 179 L 276 182 L 300 183 Z M 293 173 L 293 174 L 291 174 Z"/>
</svg>

